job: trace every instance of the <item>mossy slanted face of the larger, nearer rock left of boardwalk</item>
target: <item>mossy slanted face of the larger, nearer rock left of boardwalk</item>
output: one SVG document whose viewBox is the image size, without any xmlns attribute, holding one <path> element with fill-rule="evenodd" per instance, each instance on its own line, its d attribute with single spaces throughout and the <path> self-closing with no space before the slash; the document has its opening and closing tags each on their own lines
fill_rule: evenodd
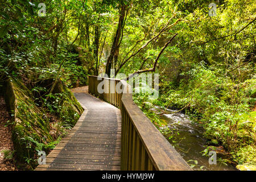
<svg viewBox="0 0 256 182">
<path fill-rule="evenodd" d="M 44 144 L 52 142 L 53 137 L 49 134 L 49 119 L 45 117 L 44 110 L 35 105 L 30 90 L 19 80 L 13 80 L 13 90 L 15 95 L 13 142 L 18 159 L 24 161 L 25 158 L 32 158 L 36 152 L 35 143 L 27 140 L 27 137 Z"/>
</svg>

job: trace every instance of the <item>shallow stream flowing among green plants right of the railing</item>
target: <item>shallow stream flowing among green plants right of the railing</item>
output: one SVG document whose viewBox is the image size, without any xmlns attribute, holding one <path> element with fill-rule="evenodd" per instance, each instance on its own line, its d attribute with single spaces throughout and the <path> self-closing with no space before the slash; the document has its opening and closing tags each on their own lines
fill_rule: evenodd
<svg viewBox="0 0 256 182">
<path fill-rule="evenodd" d="M 173 112 L 175 110 L 168 109 L 167 111 Z M 179 152 L 185 161 L 188 162 L 191 160 L 188 162 L 188 164 L 195 164 L 193 169 L 214 171 L 236 170 L 235 167 L 223 160 L 228 159 L 228 156 L 218 152 L 217 164 L 209 165 L 209 156 L 203 156 L 201 153 L 201 151 L 205 150 L 205 146 L 207 146 L 207 139 L 203 137 L 204 130 L 196 123 L 192 123 L 187 115 L 180 112 L 174 114 L 164 114 L 161 119 L 167 122 L 168 125 L 160 129 L 170 129 L 170 131 L 176 131 L 174 133 L 179 133 L 176 135 L 175 139 L 169 138 L 171 136 L 170 132 L 164 134 L 164 136 L 172 144 L 172 146 L 175 147 L 176 151 Z M 173 142 L 173 140 L 175 140 L 176 143 Z M 222 160 L 220 160 L 220 158 Z M 227 164 L 227 166 L 224 164 L 224 162 Z"/>
</svg>

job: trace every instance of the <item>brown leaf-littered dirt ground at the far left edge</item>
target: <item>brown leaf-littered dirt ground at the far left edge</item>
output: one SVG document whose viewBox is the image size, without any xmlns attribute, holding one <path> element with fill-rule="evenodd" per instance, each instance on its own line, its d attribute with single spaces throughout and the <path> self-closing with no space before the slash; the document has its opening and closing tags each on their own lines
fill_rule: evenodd
<svg viewBox="0 0 256 182">
<path fill-rule="evenodd" d="M 0 96 L 0 171 L 16 171 L 17 168 L 13 159 L 5 159 L 3 150 L 13 151 L 13 141 L 11 140 L 11 127 L 5 127 L 7 121 L 10 120 L 7 112 L 5 100 Z"/>
</svg>

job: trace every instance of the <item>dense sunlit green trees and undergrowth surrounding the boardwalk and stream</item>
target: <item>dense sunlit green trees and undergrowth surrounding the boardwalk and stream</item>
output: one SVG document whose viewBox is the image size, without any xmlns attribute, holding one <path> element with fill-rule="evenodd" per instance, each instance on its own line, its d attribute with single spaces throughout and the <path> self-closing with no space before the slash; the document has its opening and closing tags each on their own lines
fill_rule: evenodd
<svg viewBox="0 0 256 182">
<path fill-rule="evenodd" d="M 213 16 L 211 1 L 52 0 L 45 14 L 38 0 L 0 3 L 0 85 L 22 81 L 36 106 L 73 125 L 66 87 L 159 73 L 158 100 L 134 96 L 156 126 L 156 105 L 184 110 L 234 162 L 256 164 L 255 1 L 216 1 Z"/>
</svg>

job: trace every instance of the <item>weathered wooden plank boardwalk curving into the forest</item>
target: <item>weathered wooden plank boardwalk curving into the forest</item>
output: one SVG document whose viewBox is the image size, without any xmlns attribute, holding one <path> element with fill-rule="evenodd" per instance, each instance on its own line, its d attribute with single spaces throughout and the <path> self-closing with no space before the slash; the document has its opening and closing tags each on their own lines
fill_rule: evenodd
<svg viewBox="0 0 256 182">
<path fill-rule="evenodd" d="M 120 170 L 120 110 L 90 94 L 74 95 L 84 113 L 36 170 Z"/>
</svg>

